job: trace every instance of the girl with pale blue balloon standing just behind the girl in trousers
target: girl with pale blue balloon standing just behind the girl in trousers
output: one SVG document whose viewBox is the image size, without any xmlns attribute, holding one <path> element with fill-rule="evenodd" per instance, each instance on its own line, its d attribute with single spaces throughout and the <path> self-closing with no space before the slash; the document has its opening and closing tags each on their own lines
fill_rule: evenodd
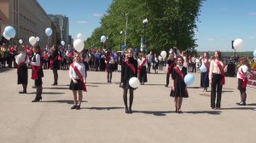
<svg viewBox="0 0 256 143">
<path fill-rule="evenodd" d="M 209 53 L 205 52 L 203 58 L 201 59 L 201 88 L 203 88 L 203 92 L 207 91 L 209 87 Z"/>
</svg>

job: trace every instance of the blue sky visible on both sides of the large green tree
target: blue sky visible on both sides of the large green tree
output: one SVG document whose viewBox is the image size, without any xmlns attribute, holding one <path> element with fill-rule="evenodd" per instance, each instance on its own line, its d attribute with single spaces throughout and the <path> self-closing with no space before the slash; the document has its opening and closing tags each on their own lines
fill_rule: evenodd
<svg viewBox="0 0 256 143">
<path fill-rule="evenodd" d="M 66 14 L 69 33 L 76 38 L 81 32 L 90 37 L 100 26 L 112 0 L 38 0 L 48 14 Z M 195 32 L 196 49 L 232 51 L 231 41 L 243 40 L 240 51 L 256 49 L 256 0 L 207 0 L 201 7 L 201 22 Z"/>
</svg>

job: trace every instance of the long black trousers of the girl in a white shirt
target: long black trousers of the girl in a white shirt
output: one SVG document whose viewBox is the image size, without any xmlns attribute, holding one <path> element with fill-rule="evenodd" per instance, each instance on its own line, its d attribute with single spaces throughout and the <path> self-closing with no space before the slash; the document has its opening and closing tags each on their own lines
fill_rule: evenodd
<svg viewBox="0 0 256 143">
<path fill-rule="evenodd" d="M 221 94 L 222 94 L 222 84 L 221 84 L 222 75 L 212 73 L 212 91 L 211 91 L 211 107 L 220 108 L 221 105 Z M 216 89 L 217 89 L 217 102 L 215 104 L 216 100 Z"/>
</svg>

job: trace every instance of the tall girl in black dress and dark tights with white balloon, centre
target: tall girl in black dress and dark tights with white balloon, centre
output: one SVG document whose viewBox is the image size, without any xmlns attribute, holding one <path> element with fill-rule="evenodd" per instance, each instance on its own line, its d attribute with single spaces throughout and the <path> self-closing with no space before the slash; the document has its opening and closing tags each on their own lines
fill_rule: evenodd
<svg viewBox="0 0 256 143">
<path fill-rule="evenodd" d="M 123 88 L 123 99 L 125 103 L 125 113 L 132 113 L 131 106 L 133 101 L 133 90 L 134 88 L 131 87 L 129 84 L 129 80 L 131 77 L 137 77 L 137 60 L 133 58 L 133 49 L 127 49 L 126 57 L 124 62 L 122 63 L 122 72 L 121 72 L 121 82 L 120 87 Z M 129 108 L 127 105 L 127 93 L 128 89 L 130 90 L 130 104 Z"/>
</svg>

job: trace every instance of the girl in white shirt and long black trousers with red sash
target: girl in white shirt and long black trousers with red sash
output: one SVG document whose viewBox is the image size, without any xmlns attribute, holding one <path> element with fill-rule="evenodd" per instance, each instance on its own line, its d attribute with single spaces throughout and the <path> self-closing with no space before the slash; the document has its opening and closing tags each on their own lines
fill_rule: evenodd
<svg viewBox="0 0 256 143">
<path fill-rule="evenodd" d="M 214 54 L 215 59 L 210 63 L 209 80 L 212 85 L 211 90 L 211 107 L 212 109 L 221 109 L 222 87 L 225 83 L 224 63 L 221 58 L 221 53 L 217 50 Z M 217 88 L 217 102 L 216 100 Z"/>
</svg>

